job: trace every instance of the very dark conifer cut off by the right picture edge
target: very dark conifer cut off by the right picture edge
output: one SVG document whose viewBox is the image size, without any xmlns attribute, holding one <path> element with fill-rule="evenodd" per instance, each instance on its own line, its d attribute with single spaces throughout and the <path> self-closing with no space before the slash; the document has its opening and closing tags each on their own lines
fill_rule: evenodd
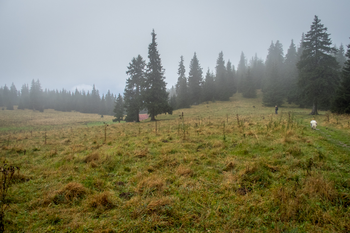
<svg viewBox="0 0 350 233">
<path fill-rule="evenodd" d="M 348 51 L 345 57 L 348 58 L 348 60 L 344 62 L 344 67 L 341 72 L 342 81 L 337 89 L 331 107 L 331 111 L 338 114 L 350 114 L 350 44 L 347 47 Z"/>
</svg>

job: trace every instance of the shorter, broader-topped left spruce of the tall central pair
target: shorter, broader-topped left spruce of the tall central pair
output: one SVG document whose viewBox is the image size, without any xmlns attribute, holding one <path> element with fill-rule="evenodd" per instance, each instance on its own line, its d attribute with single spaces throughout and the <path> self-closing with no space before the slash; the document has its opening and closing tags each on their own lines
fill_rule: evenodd
<svg viewBox="0 0 350 233">
<path fill-rule="evenodd" d="M 139 54 L 133 58 L 127 67 L 126 74 L 130 77 L 126 80 L 124 89 L 124 107 L 126 109 L 126 122 L 140 122 L 139 112 L 143 109 L 142 88 L 145 82 L 146 62 Z"/>
</svg>

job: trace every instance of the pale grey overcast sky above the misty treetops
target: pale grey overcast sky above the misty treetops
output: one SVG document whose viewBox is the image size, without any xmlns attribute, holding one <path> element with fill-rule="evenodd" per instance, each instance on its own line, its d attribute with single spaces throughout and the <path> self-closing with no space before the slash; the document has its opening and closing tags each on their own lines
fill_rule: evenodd
<svg viewBox="0 0 350 233">
<path fill-rule="evenodd" d="M 126 70 L 140 54 L 148 61 L 152 29 L 170 88 L 180 56 L 187 76 L 194 52 L 205 75 L 223 51 L 237 68 L 243 51 L 266 59 L 276 40 L 285 54 L 317 15 L 339 46 L 350 43 L 349 0 L 1 0 L 0 86 L 40 80 L 42 87 L 123 93 Z"/>
</svg>

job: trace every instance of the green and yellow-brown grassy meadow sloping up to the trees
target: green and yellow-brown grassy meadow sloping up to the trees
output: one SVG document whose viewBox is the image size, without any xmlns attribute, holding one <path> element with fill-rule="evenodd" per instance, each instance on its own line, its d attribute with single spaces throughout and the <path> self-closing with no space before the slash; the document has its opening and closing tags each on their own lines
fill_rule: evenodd
<svg viewBox="0 0 350 233">
<path fill-rule="evenodd" d="M 140 123 L 0 111 L 6 232 L 350 232 L 349 115 L 258 96 Z"/>
</svg>

